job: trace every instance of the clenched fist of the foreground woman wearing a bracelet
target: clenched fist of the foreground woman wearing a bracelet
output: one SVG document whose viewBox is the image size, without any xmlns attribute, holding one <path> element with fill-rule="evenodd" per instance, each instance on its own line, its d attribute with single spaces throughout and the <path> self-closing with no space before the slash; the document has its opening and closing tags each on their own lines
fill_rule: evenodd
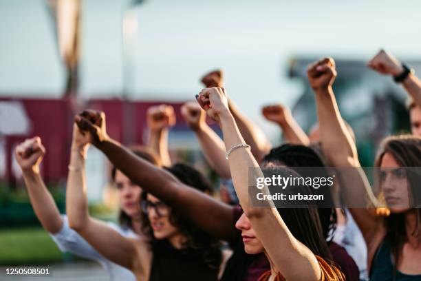
<svg viewBox="0 0 421 281">
<path fill-rule="evenodd" d="M 200 107 L 206 111 L 206 114 L 214 121 L 219 123 L 219 117 L 222 114 L 229 114 L 228 101 L 225 89 L 223 87 L 211 87 L 203 89 L 196 96 Z"/>
</svg>

